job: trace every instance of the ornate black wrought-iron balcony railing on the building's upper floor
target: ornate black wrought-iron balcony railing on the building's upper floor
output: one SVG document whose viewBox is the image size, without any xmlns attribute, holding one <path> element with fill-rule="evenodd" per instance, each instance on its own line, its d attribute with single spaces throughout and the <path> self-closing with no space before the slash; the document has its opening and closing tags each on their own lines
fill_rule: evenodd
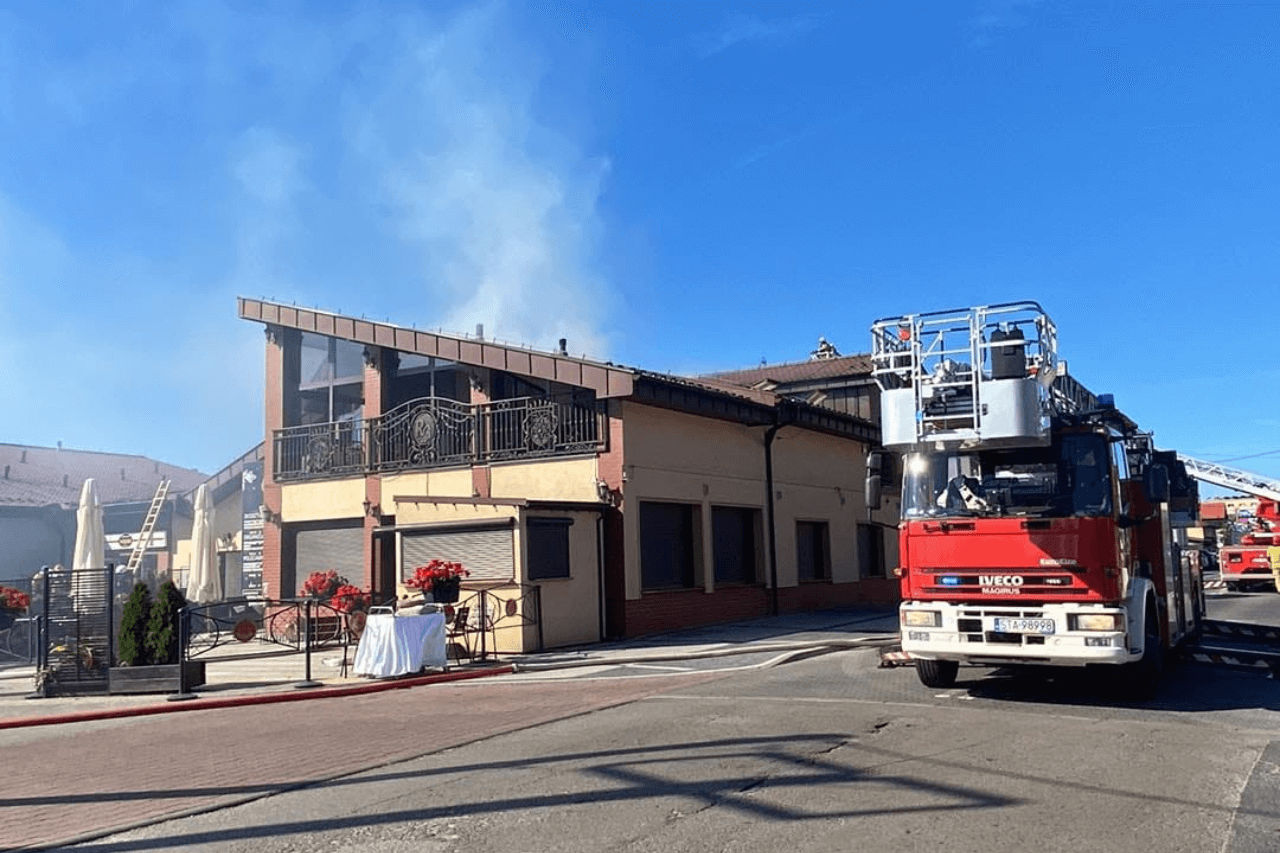
<svg viewBox="0 0 1280 853">
<path fill-rule="evenodd" d="M 590 392 L 470 405 L 422 397 L 380 418 L 275 430 L 275 480 L 594 453 L 607 435 Z"/>
</svg>

